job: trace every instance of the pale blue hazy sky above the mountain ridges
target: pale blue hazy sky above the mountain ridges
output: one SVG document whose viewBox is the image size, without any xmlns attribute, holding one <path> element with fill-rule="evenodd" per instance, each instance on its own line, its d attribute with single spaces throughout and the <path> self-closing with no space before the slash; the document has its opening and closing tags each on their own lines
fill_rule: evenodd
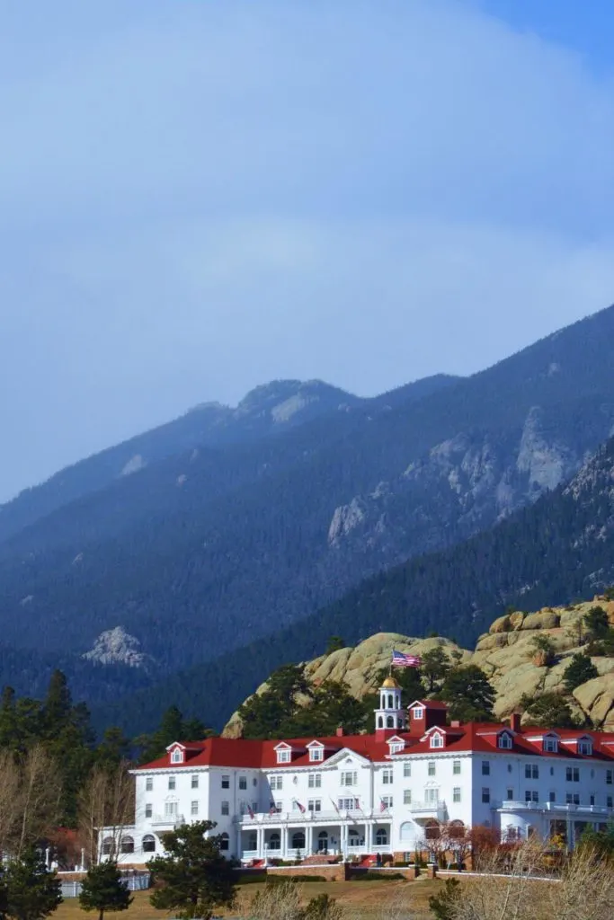
<svg viewBox="0 0 614 920">
<path fill-rule="evenodd" d="M 606 0 L 0 0 L 0 498 L 614 301 Z"/>
</svg>

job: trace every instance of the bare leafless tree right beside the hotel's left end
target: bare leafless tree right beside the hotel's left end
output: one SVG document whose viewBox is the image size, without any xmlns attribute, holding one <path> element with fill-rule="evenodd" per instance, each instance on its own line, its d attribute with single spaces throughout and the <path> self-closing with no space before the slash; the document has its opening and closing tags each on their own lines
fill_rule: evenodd
<svg viewBox="0 0 614 920">
<path fill-rule="evenodd" d="M 127 762 L 104 769 L 95 766 L 78 798 L 79 833 L 90 865 L 98 862 L 104 828 L 105 855 L 118 859 L 126 825 L 134 822 L 134 784 Z"/>
</svg>

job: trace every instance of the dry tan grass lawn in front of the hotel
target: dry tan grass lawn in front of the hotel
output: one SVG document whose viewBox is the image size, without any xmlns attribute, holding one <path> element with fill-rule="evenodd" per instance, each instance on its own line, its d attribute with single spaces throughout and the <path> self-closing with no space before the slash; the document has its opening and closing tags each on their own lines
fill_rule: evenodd
<svg viewBox="0 0 614 920">
<path fill-rule="evenodd" d="M 433 880 L 417 881 L 310 881 L 302 886 L 304 899 L 313 898 L 326 891 L 330 897 L 348 908 L 348 913 L 356 920 L 386 920 L 387 905 L 390 908 L 401 904 L 415 920 L 427 920 L 431 914 L 428 899 L 441 886 Z M 237 908 L 232 915 L 241 914 L 244 907 L 261 884 L 239 885 Z M 224 912 L 220 912 L 224 913 Z M 393 913 L 393 911 L 390 911 Z M 105 914 L 107 920 L 166 920 L 168 914 L 156 911 L 149 903 L 148 891 L 136 891 L 129 910 L 122 914 Z M 98 920 L 97 914 L 86 914 L 79 907 L 78 898 L 66 898 L 53 914 L 54 920 Z"/>
</svg>

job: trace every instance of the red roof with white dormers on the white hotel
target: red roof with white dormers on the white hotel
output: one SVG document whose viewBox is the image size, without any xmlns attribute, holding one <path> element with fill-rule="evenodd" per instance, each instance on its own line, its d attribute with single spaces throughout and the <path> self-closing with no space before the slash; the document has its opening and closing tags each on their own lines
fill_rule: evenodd
<svg viewBox="0 0 614 920">
<path fill-rule="evenodd" d="M 437 727 L 434 726 L 434 729 Z M 203 742 L 182 742 L 185 748 L 185 759 L 182 764 L 171 764 L 169 754 L 159 757 L 149 764 L 136 767 L 137 770 L 155 770 L 155 769 L 190 769 L 194 766 L 242 766 L 246 768 L 275 768 L 275 769 L 293 769 L 296 766 L 317 766 L 330 760 L 335 754 L 343 750 L 353 751 L 374 763 L 385 763 L 394 760 L 406 753 L 438 753 L 442 750 L 446 752 L 458 753 L 492 753 L 501 751 L 501 753 L 526 753 L 532 756 L 536 754 L 541 757 L 573 757 L 574 759 L 590 760 L 607 760 L 614 762 L 614 733 L 585 730 L 556 730 L 561 735 L 562 740 L 583 738 L 588 736 L 593 739 L 593 754 L 578 754 L 570 747 L 569 744 L 561 745 L 558 753 L 543 751 L 540 742 L 529 742 L 527 737 L 535 737 L 539 732 L 546 733 L 547 729 L 527 728 L 513 734 L 512 747 L 508 749 L 497 748 L 497 732 L 505 729 L 509 730 L 508 725 L 502 723 L 484 723 L 468 722 L 461 726 L 439 726 L 446 736 L 445 748 L 431 748 L 430 735 L 433 730 L 425 735 L 423 739 L 416 735 L 411 735 L 405 731 L 397 732 L 400 739 L 405 742 L 405 747 L 399 753 L 390 753 L 388 745 L 389 739 L 382 739 L 375 734 L 369 735 L 332 735 L 325 738 L 284 738 L 273 741 L 258 742 L 248 741 L 242 738 L 207 738 Z M 288 763 L 280 764 L 277 762 L 277 753 L 275 748 L 280 742 L 285 742 L 292 748 L 292 757 Z M 313 741 L 319 741 L 324 745 L 324 757 L 321 761 L 309 760 L 307 744 Z M 606 742 L 608 742 L 606 744 Z M 173 745 L 169 745 L 172 748 Z"/>
</svg>

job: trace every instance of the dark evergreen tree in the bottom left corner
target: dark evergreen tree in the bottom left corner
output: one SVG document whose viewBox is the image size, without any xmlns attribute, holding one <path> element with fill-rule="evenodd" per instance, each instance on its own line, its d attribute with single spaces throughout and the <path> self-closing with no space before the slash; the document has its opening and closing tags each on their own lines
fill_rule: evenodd
<svg viewBox="0 0 614 920">
<path fill-rule="evenodd" d="M 3 871 L 6 916 L 13 920 L 42 920 L 62 903 L 62 885 L 34 848 L 11 860 Z"/>
</svg>

